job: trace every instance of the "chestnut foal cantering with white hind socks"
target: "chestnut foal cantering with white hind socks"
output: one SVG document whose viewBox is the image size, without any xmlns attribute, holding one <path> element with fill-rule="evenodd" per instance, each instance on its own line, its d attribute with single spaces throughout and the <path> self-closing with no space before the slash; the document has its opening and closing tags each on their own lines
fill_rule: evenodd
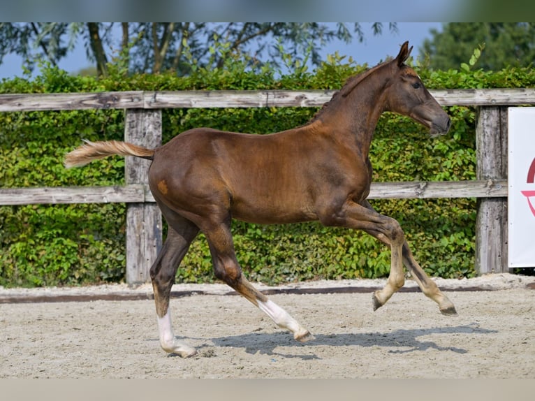
<svg viewBox="0 0 535 401">
<path fill-rule="evenodd" d="M 66 166 L 83 166 L 112 154 L 152 160 L 149 186 L 168 222 L 166 241 L 150 270 L 161 347 L 188 357 L 169 311 L 179 263 L 199 231 L 210 247 L 214 273 L 268 314 L 295 340 L 314 339 L 288 312 L 242 274 L 230 233 L 232 219 L 284 224 L 318 220 L 325 226 L 363 230 L 391 249 L 386 286 L 373 294 L 377 309 L 404 284 L 403 263 L 443 314 L 455 307 L 414 260 L 400 224 L 366 200 L 372 181 L 369 146 L 384 111 L 409 116 L 432 135 L 446 133 L 450 119 L 405 63 L 405 42 L 395 59 L 355 75 L 305 126 L 268 135 L 191 129 L 150 150 L 130 143 L 86 143 L 66 155 Z"/>
</svg>

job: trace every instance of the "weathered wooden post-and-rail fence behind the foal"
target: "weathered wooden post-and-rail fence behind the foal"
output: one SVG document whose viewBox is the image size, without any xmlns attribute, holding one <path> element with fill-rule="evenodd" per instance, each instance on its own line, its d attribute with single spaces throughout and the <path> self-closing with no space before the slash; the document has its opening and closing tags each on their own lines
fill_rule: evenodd
<svg viewBox="0 0 535 401">
<path fill-rule="evenodd" d="M 126 109 L 124 138 L 161 144 L 164 108 L 319 107 L 335 91 L 188 91 L 3 94 L 0 111 Z M 443 106 L 477 106 L 476 180 L 374 182 L 369 198 L 478 198 L 476 271 L 507 272 L 507 108 L 535 104 L 535 89 L 432 90 Z M 75 147 L 73 143 L 73 147 Z M 0 205 L 127 203 L 126 282 L 149 281 L 162 244 L 161 213 L 147 186 L 149 161 L 126 158 L 124 187 L 0 189 Z"/>
</svg>

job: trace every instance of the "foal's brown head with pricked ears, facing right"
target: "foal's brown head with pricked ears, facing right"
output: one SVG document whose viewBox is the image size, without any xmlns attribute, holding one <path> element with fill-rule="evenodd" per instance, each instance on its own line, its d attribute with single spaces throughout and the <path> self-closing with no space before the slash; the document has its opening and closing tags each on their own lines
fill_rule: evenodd
<svg viewBox="0 0 535 401">
<path fill-rule="evenodd" d="M 411 50 L 409 42 L 403 43 L 400 54 L 390 61 L 390 68 L 394 71 L 386 94 L 387 110 L 409 116 L 427 126 L 431 130 L 431 136 L 447 133 L 450 117 L 425 89 L 416 71 L 405 64 Z"/>
</svg>

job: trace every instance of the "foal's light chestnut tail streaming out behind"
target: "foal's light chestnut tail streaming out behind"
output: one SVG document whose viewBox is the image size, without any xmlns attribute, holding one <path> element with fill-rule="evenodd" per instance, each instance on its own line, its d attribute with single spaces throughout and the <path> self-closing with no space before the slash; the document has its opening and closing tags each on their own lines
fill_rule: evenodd
<svg viewBox="0 0 535 401">
<path fill-rule="evenodd" d="M 91 161 L 103 159 L 112 154 L 135 156 L 148 160 L 152 160 L 154 156 L 154 150 L 152 149 L 118 140 L 108 140 L 105 142 L 89 142 L 89 140 L 84 140 L 84 142 L 84 145 L 77 147 L 65 155 L 66 168 L 85 166 Z"/>
</svg>

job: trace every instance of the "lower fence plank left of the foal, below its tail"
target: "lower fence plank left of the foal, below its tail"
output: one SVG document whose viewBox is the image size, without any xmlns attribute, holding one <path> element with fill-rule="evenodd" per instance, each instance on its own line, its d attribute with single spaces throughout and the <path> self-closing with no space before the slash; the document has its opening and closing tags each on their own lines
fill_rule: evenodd
<svg viewBox="0 0 535 401">
<path fill-rule="evenodd" d="M 0 205 L 145 202 L 145 185 L 0 189 Z M 152 200 L 154 202 L 154 199 Z"/>
</svg>

